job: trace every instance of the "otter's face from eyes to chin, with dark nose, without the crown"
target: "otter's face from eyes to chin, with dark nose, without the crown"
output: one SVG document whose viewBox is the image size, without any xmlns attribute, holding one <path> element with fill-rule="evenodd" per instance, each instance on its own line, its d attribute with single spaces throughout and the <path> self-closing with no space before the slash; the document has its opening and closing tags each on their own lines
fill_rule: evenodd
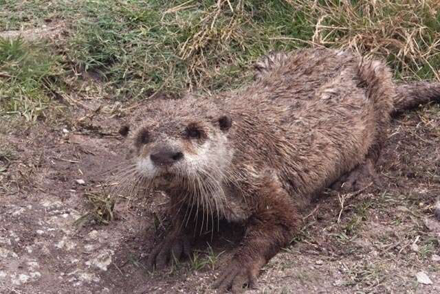
<svg viewBox="0 0 440 294">
<path fill-rule="evenodd" d="M 146 123 L 133 137 L 137 172 L 159 188 L 223 174 L 232 157 L 226 146 L 231 126 L 228 116 Z"/>
</svg>

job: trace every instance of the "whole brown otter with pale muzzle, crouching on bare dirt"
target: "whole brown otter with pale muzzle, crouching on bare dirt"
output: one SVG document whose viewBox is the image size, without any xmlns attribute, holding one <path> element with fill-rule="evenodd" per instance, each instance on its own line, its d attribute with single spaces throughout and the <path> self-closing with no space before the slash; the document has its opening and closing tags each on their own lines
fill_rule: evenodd
<svg viewBox="0 0 440 294">
<path fill-rule="evenodd" d="M 169 196 L 173 216 L 148 262 L 190 254 L 189 219 L 242 223 L 214 283 L 234 292 L 291 242 L 314 195 L 373 172 L 391 115 L 440 98 L 440 84 L 399 86 L 381 61 L 331 49 L 269 54 L 255 69 L 234 93 L 151 102 L 131 135 L 138 177 Z"/>
</svg>

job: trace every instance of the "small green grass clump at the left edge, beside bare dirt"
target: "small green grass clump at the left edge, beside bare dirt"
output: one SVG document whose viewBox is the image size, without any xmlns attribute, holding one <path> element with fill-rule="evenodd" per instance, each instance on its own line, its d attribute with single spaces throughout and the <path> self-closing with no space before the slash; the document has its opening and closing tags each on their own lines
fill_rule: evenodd
<svg viewBox="0 0 440 294">
<path fill-rule="evenodd" d="M 36 120 L 50 103 L 63 69 L 47 45 L 0 38 L 0 113 Z"/>
</svg>

